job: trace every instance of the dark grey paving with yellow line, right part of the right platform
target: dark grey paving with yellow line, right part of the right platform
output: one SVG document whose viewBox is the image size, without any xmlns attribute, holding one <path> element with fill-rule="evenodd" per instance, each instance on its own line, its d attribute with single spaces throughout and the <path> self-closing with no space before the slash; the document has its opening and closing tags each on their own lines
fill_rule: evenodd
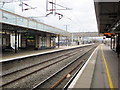
<svg viewBox="0 0 120 90">
<path fill-rule="evenodd" d="M 110 47 L 101 45 L 91 88 L 118 88 L 118 59 Z"/>
</svg>

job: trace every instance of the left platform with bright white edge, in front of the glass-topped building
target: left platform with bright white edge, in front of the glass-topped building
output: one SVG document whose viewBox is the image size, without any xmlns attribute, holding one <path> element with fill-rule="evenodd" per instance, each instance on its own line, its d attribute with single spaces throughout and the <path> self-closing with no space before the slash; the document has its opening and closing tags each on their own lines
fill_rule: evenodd
<svg viewBox="0 0 120 90">
<path fill-rule="evenodd" d="M 0 62 L 5 62 L 9 60 L 14 60 L 14 59 L 20 59 L 20 58 L 25 58 L 25 57 L 30 57 L 30 56 L 35 56 L 35 55 L 42 55 L 42 54 L 47 54 L 47 53 L 52 53 L 52 52 L 57 52 L 61 50 L 67 50 L 67 49 L 72 49 L 72 48 L 77 48 L 77 47 L 83 47 L 91 44 L 81 44 L 77 46 L 61 46 L 60 48 L 54 48 L 54 49 L 45 49 L 45 50 L 26 50 L 26 51 L 19 51 L 18 53 L 4 53 L 2 54 L 2 60 Z"/>
</svg>

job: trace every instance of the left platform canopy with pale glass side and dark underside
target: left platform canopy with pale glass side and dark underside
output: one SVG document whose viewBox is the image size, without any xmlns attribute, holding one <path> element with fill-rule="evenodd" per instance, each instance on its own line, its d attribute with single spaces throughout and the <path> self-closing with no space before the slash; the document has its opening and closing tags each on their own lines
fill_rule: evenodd
<svg viewBox="0 0 120 90">
<path fill-rule="evenodd" d="M 9 31 L 19 30 L 23 32 L 23 30 L 24 31 L 33 30 L 39 32 L 52 33 L 61 36 L 70 35 L 70 33 L 65 30 L 38 22 L 27 17 L 20 16 L 18 14 L 12 13 L 4 9 L 0 9 L 0 16 L 1 16 L 0 23 L 2 23 L 2 29 L 8 29 Z"/>
</svg>

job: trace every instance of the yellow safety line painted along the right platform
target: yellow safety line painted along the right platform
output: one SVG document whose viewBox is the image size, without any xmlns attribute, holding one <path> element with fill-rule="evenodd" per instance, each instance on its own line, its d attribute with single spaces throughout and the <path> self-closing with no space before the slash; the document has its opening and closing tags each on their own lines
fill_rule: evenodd
<svg viewBox="0 0 120 90">
<path fill-rule="evenodd" d="M 110 75 L 110 71 L 109 71 L 109 68 L 108 68 L 108 65 L 107 65 L 107 61 L 106 61 L 106 58 L 105 58 L 102 46 L 101 46 L 101 50 L 102 50 L 102 57 L 104 59 L 104 64 L 105 64 L 105 67 L 106 67 L 106 72 L 107 72 L 107 77 L 108 77 L 108 81 L 109 81 L 109 86 L 110 86 L 111 90 L 114 90 L 112 79 L 111 79 L 111 75 Z"/>
</svg>

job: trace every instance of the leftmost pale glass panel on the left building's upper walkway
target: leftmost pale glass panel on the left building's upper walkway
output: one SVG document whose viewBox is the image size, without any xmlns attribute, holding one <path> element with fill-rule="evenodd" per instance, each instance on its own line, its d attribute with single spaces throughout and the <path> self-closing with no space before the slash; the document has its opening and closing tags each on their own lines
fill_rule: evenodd
<svg viewBox="0 0 120 90">
<path fill-rule="evenodd" d="M 2 20 L 6 23 L 10 24 L 16 24 L 16 16 L 9 14 L 9 13 L 4 13 L 2 14 Z"/>
</svg>

